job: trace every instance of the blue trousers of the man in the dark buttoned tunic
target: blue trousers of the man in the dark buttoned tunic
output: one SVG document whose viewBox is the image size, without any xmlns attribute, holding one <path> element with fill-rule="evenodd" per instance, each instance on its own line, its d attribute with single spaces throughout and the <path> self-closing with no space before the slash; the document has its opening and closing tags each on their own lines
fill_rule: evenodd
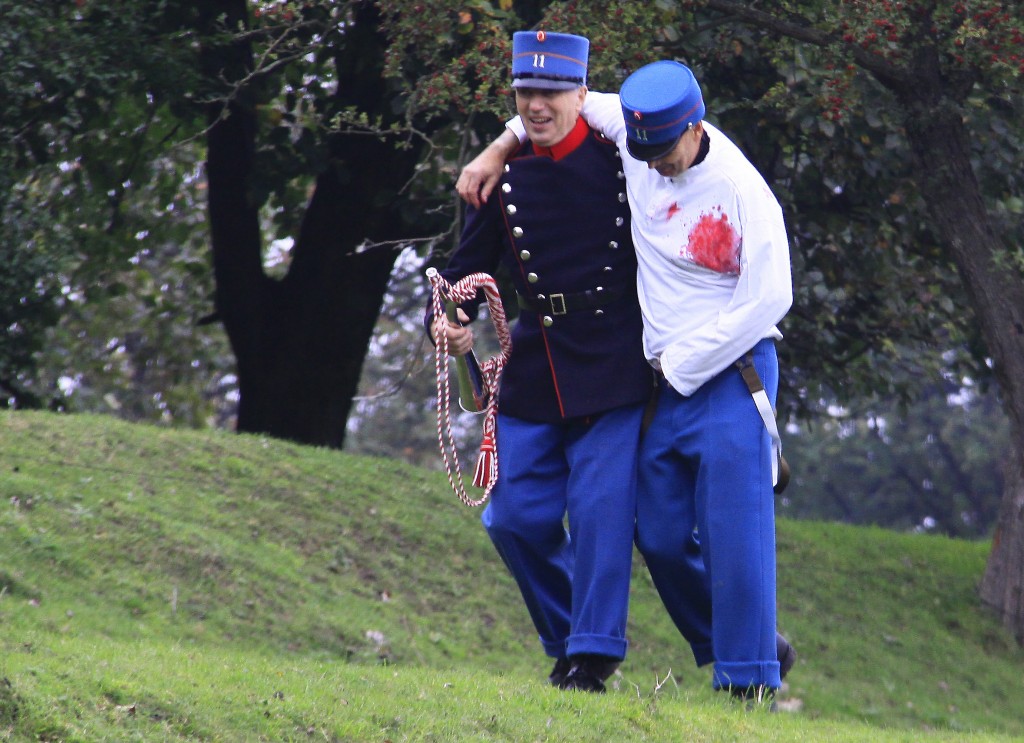
<svg viewBox="0 0 1024 743">
<path fill-rule="evenodd" d="M 626 656 L 642 416 L 629 405 L 586 422 L 498 417 L 481 521 L 553 658 Z"/>
</svg>

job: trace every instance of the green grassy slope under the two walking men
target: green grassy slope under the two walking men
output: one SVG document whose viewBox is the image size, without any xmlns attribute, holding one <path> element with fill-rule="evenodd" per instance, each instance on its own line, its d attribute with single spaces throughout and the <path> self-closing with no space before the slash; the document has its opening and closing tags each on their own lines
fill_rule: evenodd
<svg viewBox="0 0 1024 743">
<path fill-rule="evenodd" d="M 478 518 L 387 460 L 0 412 L 0 740 L 1024 737 L 985 543 L 781 521 L 768 714 L 711 691 L 639 562 L 611 693 L 548 688 Z"/>
</svg>

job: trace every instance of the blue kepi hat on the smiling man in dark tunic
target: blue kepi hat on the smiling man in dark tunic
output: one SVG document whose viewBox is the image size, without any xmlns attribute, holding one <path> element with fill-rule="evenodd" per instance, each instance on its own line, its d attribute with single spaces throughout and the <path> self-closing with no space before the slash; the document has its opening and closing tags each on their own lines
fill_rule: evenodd
<svg viewBox="0 0 1024 743">
<path fill-rule="evenodd" d="M 573 34 L 519 31 L 512 35 L 512 87 L 571 90 L 587 84 L 590 41 Z"/>
</svg>

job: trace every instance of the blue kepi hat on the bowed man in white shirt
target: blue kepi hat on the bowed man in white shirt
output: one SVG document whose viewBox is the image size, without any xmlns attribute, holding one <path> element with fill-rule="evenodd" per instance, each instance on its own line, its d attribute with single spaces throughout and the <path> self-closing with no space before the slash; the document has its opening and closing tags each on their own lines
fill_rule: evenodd
<svg viewBox="0 0 1024 743">
<path fill-rule="evenodd" d="M 618 101 L 626 120 L 626 148 L 637 160 L 664 158 L 705 115 L 693 73 L 669 59 L 646 64 L 626 78 Z"/>
</svg>

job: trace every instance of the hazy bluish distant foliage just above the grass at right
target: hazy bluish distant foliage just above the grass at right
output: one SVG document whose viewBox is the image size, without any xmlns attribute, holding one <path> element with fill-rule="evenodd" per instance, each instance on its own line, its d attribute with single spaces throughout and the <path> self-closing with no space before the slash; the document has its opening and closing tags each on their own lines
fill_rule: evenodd
<svg viewBox="0 0 1024 743">
<path fill-rule="evenodd" d="M 813 421 L 784 435 L 794 478 L 780 514 L 968 538 L 991 533 L 1010 446 L 994 393 L 949 386 L 924 390 L 905 407 L 887 399 L 817 406 Z"/>
</svg>

